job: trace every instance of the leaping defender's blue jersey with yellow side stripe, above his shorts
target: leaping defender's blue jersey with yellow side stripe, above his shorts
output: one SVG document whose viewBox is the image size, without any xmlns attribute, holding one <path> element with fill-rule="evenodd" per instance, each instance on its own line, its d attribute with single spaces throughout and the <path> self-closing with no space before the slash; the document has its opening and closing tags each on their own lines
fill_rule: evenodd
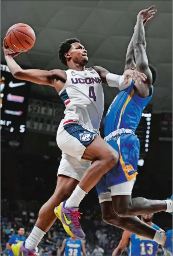
<svg viewBox="0 0 173 256">
<path fill-rule="evenodd" d="M 152 97 L 153 86 L 151 86 L 150 96 L 141 98 L 134 93 L 133 84 L 132 79 L 130 86 L 121 91 L 110 105 L 105 117 L 105 136 L 120 128 L 128 128 L 135 132 L 142 111 Z"/>
</svg>

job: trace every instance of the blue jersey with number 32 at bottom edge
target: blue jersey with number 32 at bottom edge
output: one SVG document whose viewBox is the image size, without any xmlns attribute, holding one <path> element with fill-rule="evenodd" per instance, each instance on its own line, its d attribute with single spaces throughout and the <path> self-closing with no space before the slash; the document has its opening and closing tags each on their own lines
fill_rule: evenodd
<svg viewBox="0 0 173 256">
<path fill-rule="evenodd" d="M 66 239 L 65 255 L 66 256 L 81 256 L 82 242 L 80 239 L 72 240 L 71 237 Z"/>
</svg>

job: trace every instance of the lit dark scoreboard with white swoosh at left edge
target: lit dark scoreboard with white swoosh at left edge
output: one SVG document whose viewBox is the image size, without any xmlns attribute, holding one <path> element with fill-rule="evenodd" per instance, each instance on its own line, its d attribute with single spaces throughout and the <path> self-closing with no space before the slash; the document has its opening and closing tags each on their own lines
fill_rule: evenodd
<svg viewBox="0 0 173 256">
<path fill-rule="evenodd" d="M 30 86 L 31 82 L 16 79 L 8 66 L 1 64 L 1 138 L 25 132 Z"/>
</svg>

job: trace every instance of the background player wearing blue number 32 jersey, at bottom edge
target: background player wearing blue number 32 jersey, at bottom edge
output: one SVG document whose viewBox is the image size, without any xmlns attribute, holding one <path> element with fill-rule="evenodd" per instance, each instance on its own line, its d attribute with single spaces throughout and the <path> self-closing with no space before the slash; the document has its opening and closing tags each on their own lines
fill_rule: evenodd
<svg viewBox="0 0 173 256">
<path fill-rule="evenodd" d="M 86 256 L 85 243 L 83 240 L 69 237 L 64 239 L 59 256 L 81 256 L 81 251 L 83 255 Z"/>
</svg>

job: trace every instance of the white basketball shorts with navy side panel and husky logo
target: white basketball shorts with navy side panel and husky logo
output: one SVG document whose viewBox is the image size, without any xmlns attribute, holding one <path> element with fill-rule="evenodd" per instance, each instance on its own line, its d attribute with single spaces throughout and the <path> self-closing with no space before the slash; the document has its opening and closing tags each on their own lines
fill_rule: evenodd
<svg viewBox="0 0 173 256">
<path fill-rule="evenodd" d="M 57 175 L 65 175 L 80 181 L 90 161 L 82 159 L 86 147 L 96 133 L 85 129 L 78 122 L 63 119 L 57 131 L 57 144 L 62 150 L 62 159 Z"/>
</svg>

